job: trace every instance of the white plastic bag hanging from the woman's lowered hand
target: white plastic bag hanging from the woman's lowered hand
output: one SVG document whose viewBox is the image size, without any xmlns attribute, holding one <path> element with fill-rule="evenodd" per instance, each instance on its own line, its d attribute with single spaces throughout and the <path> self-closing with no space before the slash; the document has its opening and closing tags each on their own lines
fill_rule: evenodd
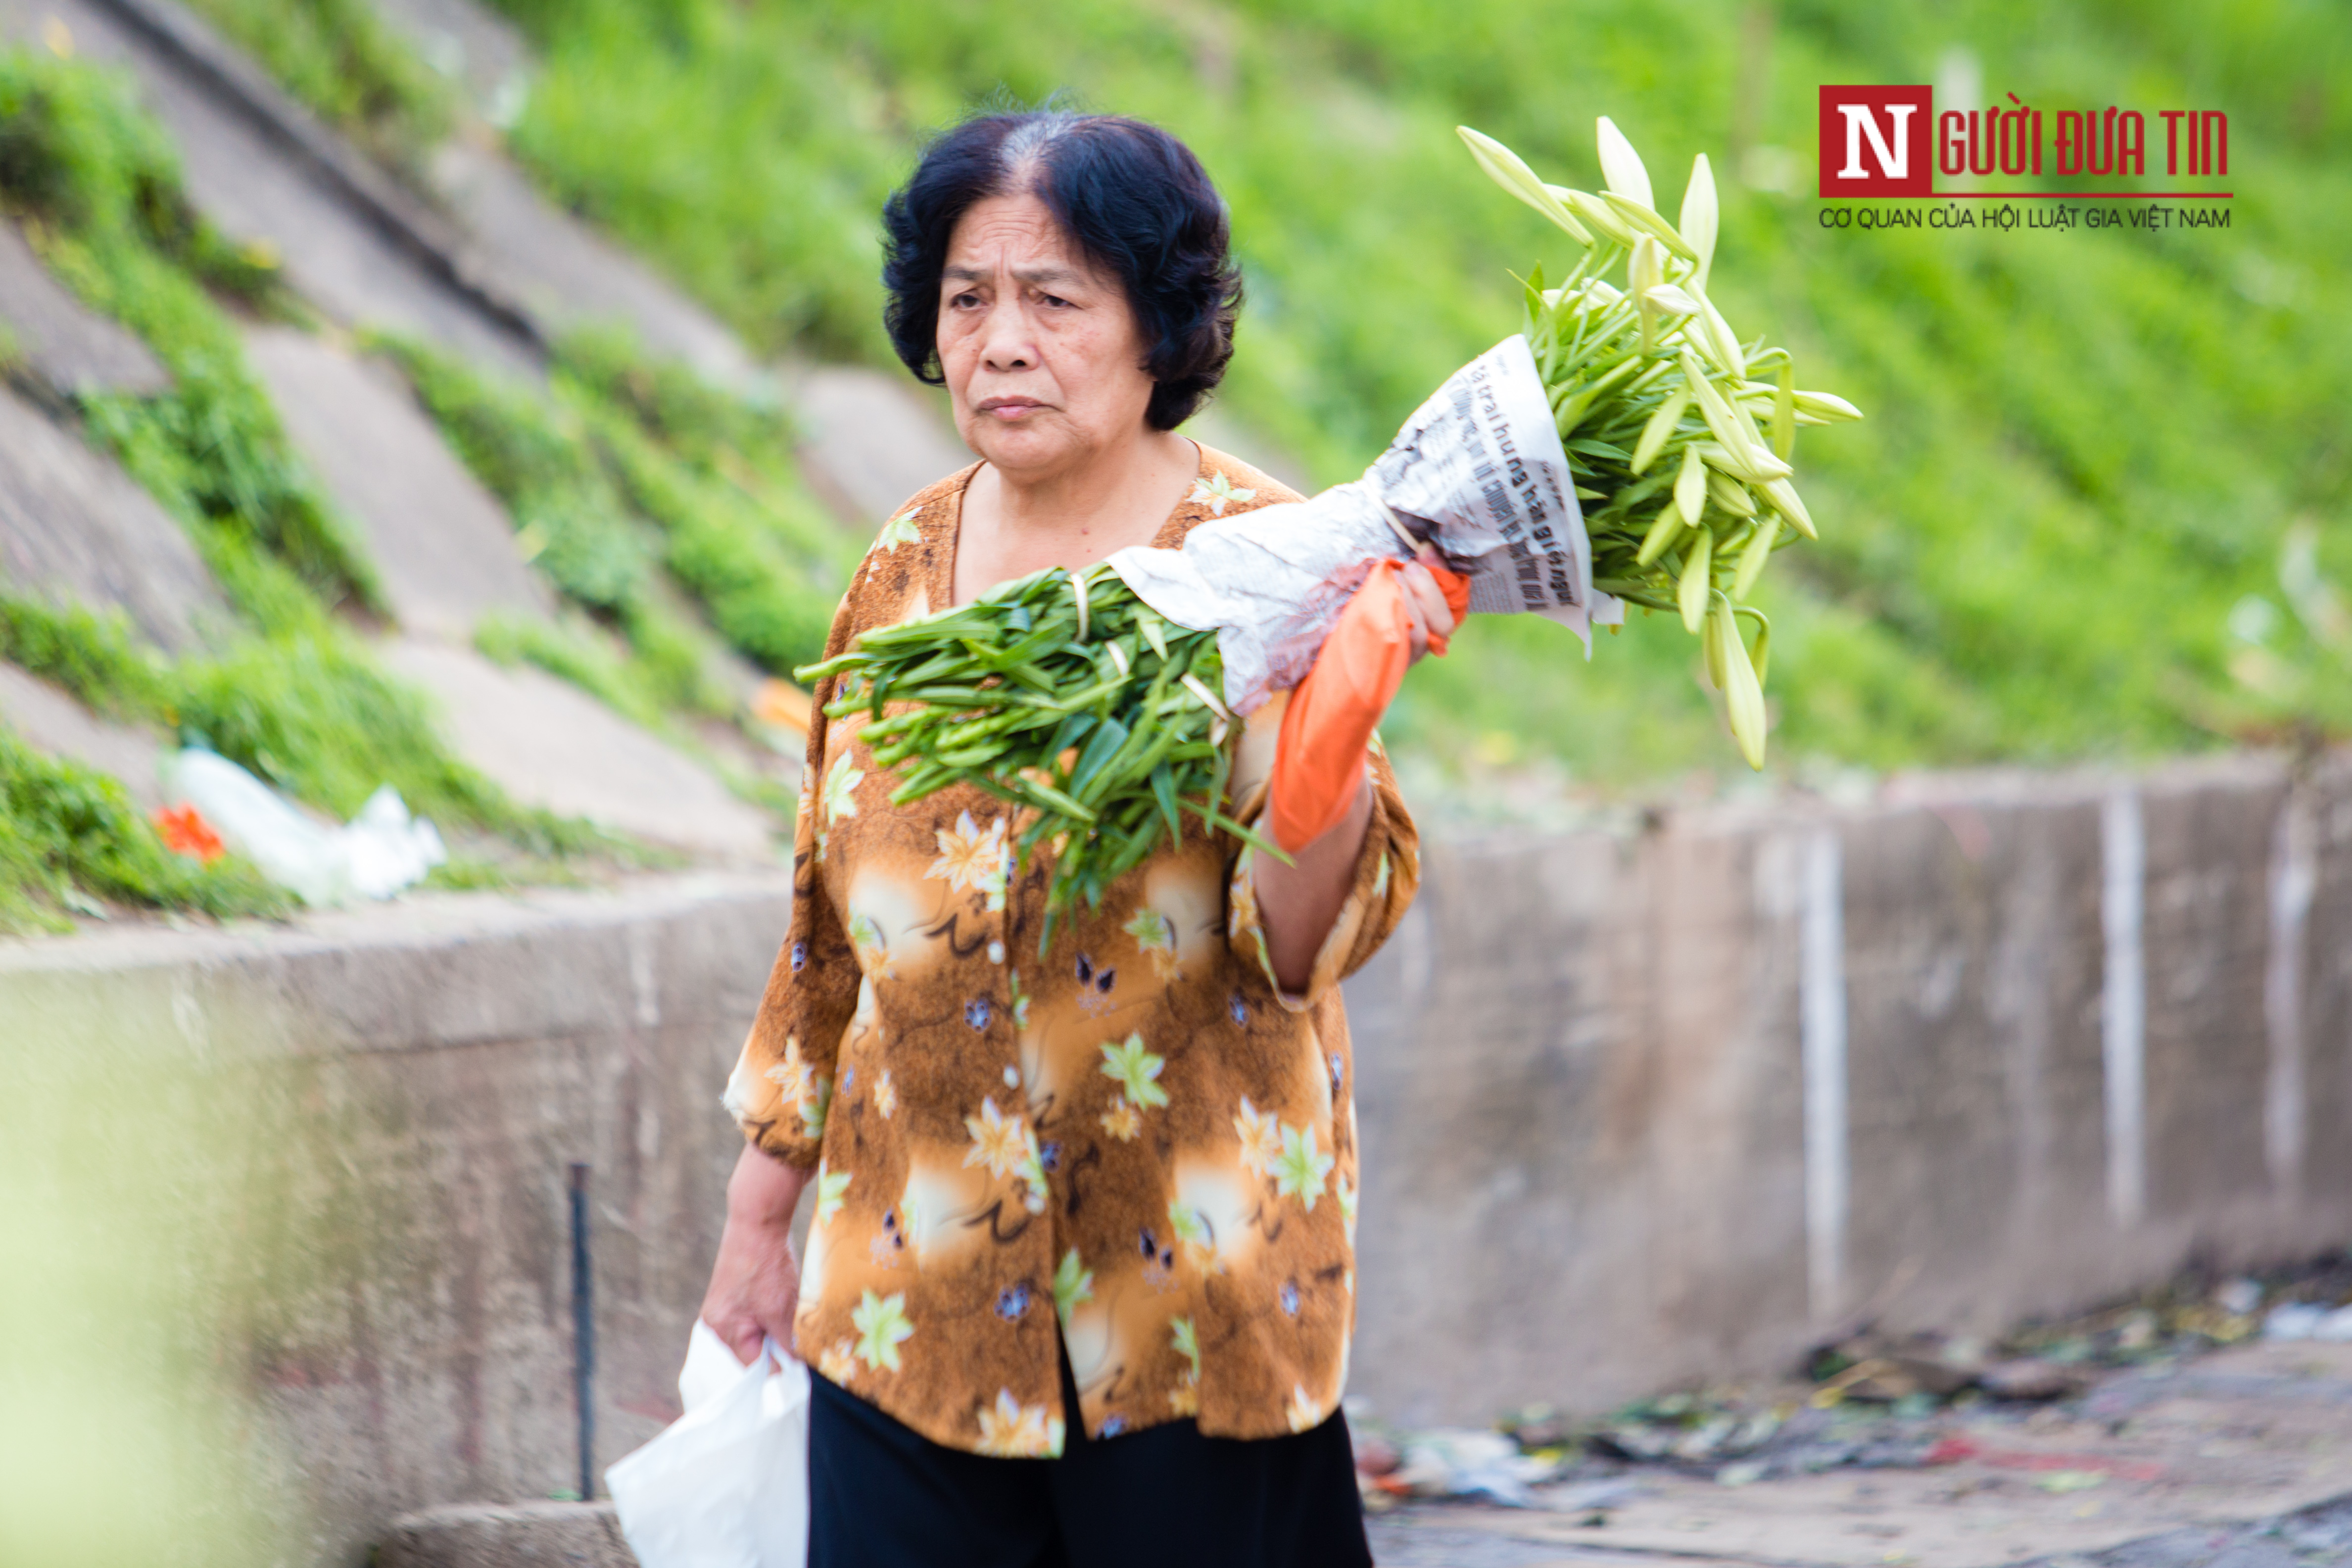
<svg viewBox="0 0 2352 1568">
<path fill-rule="evenodd" d="M 802 1568 L 809 1559 L 809 1368 L 774 1340 L 741 1366 L 694 1324 L 687 1413 L 604 1472 L 644 1568 Z"/>
</svg>

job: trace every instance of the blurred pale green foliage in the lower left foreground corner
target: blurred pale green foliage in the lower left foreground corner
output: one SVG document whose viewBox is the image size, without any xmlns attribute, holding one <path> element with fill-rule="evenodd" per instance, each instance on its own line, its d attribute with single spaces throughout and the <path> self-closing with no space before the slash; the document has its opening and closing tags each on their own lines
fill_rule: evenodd
<svg viewBox="0 0 2352 1568">
<path fill-rule="evenodd" d="M 125 1016 L 49 980 L 0 987 L 0 1563 L 308 1561 L 318 1526 L 252 1366 L 285 1340 L 275 1302 L 315 1300 L 353 1248 L 336 1222 L 367 1213 L 318 1185 L 308 1211 L 280 1197 L 320 1103 L 228 1065 L 268 1034 L 212 987 Z"/>
</svg>

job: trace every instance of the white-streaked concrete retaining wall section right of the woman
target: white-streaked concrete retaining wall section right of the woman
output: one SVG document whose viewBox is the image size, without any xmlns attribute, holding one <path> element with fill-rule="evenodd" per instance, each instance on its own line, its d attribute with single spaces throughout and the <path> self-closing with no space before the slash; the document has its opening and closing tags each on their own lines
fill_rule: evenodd
<svg viewBox="0 0 2352 1568">
<path fill-rule="evenodd" d="M 1432 849 L 1348 992 L 1352 1389 L 1482 1422 L 2352 1239 L 2352 769 Z"/>
</svg>

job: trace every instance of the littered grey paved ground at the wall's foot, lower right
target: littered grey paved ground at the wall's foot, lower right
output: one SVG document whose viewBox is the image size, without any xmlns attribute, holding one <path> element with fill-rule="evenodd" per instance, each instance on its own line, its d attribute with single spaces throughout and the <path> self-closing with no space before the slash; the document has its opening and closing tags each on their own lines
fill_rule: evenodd
<svg viewBox="0 0 2352 1568">
<path fill-rule="evenodd" d="M 2352 1345 L 2241 1345 L 2065 1406 L 1931 1427 L 1938 1462 L 1724 1486 L 1581 1469 L 1548 1507 L 1416 1502 L 1383 1568 L 2270 1568 L 2352 1563 Z"/>
</svg>

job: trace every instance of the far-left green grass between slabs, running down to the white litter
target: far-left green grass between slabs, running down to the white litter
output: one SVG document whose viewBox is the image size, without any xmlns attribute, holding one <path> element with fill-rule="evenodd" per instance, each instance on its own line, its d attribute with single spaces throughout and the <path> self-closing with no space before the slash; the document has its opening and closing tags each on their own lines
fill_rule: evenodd
<svg viewBox="0 0 2352 1568">
<path fill-rule="evenodd" d="M 99 710 L 202 736 L 336 816 L 393 783 L 416 811 L 529 853 L 604 844 L 579 823 L 517 809 L 442 750 L 426 705 L 334 614 L 374 597 L 369 567 L 292 456 L 230 322 L 230 310 L 289 301 L 195 219 L 172 148 L 127 85 L 0 52 L 0 207 L 92 308 L 172 369 L 162 395 L 89 395 L 80 414 L 191 531 L 238 609 L 214 654 L 165 661 L 134 646 L 120 621 L 0 588 L 0 658 Z M 92 898 L 214 914 L 285 907 L 249 867 L 198 872 L 165 853 L 113 780 L 0 731 L 0 931 L 54 926 L 59 910 Z"/>
</svg>

